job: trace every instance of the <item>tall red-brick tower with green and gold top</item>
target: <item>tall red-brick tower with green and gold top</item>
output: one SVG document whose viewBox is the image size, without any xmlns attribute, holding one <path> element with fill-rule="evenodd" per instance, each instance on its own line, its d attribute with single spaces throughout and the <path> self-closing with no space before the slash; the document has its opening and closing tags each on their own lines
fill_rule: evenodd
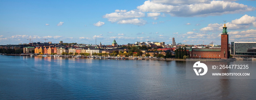
<svg viewBox="0 0 256 100">
<path fill-rule="evenodd" d="M 227 27 L 224 24 L 223 32 L 221 34 L 221 58 L 229 58 L 229 34 L 227 34 Z"/>
</svg>

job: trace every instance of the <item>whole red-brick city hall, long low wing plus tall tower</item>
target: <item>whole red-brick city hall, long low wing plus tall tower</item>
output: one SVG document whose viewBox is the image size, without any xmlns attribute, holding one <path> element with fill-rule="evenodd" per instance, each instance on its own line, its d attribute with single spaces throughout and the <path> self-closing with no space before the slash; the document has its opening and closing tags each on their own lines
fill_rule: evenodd
<svg viewBox="0 0 256 100">
<path fill-rule="evenodd" d="M 221 34 L 221 48 L 191 48 L 188 52 L 190 58 L 194 59 L 225 59 L 230 57 L 229 34 L 224 24 Z"/>
</svg>

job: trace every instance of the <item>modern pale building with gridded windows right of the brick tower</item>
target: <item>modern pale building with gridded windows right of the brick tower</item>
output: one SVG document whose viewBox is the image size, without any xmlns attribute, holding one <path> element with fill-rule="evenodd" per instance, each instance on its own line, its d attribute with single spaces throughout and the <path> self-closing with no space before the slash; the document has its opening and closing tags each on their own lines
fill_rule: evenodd
<svg viewBox="0 0 256 100">
<path fill-rule="evenodd" d="M 231 54 L 256 55 L 256 42 L 231 42 Z"/>
</svg>

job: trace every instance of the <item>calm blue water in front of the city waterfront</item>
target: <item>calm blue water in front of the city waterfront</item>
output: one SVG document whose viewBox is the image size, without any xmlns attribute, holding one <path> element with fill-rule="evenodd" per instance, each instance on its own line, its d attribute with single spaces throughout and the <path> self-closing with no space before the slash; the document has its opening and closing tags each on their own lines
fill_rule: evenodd
<svg viewBox="0 0 256 100">
<path fill-rule="evenodd" d="M 185 61 L 0 55 L 0 99 L 255 99 L 255 79 L 186 79 Z"/>
</svg>

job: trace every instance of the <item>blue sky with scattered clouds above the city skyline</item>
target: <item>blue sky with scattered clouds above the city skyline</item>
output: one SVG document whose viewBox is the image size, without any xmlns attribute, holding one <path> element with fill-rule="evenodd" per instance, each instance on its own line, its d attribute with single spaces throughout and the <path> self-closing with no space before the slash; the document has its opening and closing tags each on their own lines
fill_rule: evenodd
<svg viewBox="0 0 256 100">
<path fill-rule="evenodd" d="M 0 0 L 0 45 L 220 45 L 224 23 L 229 42 L 256 41 L 256 0 Z"/>
</svg>

